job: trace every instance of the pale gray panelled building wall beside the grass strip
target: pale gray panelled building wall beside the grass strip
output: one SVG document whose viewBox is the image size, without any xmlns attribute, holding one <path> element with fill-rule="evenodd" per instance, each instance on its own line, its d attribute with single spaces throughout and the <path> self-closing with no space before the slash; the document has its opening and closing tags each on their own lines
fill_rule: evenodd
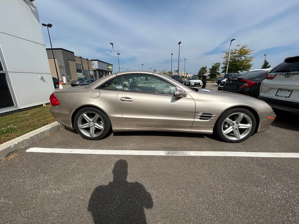
<svg viewBox="0 0 299 224">
<path fill-rule="evenodd" d="M 1 62 L 14 99 L 0 113 L 48 103 L 54 86 L 35 1 L 1 0 L 0 15 Z"/>
</svg>

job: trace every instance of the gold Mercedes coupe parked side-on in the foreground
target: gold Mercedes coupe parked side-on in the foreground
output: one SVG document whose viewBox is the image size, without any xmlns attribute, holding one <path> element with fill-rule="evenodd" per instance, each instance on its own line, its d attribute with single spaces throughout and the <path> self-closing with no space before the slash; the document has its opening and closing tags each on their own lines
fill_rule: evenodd
<svg viewBox="0 0 299 224">
<path fill-rule="evenodd" d="M 136 77 L 154 82 L 130 81 Z M 173 131 L 214 132 L 234 143 L 266 131 L 276 117 L 262 100 L 187 87 L 147 71 L 112 73 L 85 87 L 55 90 L 50 102 L 59 123 L 89 140 L 102 139 L 111 131 Z"/>
</svg>

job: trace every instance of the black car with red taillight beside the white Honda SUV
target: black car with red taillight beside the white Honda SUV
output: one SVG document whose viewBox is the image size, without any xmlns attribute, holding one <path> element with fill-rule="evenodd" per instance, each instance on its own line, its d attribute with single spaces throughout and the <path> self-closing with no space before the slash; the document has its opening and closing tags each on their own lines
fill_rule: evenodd
<svg viewBox="0 0 299 224">
<path fill-rule="evenodd" d="M 245 73 L 238 77 L 226 79 L 223 91 L 240 93 L 247 96 L 257 97 L 260 93 L 261 82 L 265 79 L 267 71 Z"/>
</svg>

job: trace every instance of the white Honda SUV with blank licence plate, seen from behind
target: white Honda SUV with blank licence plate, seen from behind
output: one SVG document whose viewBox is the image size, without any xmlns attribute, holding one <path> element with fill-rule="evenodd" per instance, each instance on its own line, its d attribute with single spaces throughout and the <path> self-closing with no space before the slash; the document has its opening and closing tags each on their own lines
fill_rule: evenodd
<svg viewBox="0 0 299 224">
<path fill-rule="evenodd" d="M 267 72 L 257 98 L 274 109 L 299 114 L 299 56 L 288 57 Z"/>
</svg>

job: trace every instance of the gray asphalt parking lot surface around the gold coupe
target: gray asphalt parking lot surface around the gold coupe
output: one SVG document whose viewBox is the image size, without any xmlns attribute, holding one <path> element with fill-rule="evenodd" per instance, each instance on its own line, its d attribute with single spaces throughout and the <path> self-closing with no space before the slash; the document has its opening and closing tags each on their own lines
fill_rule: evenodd
<svg viewBox="0 0 299 224">
<path fill-rule="evenodd" d="M 299 223 L 298 125 L 278 113 L 238 144 L 171 132 L 88 141 L 61 129 L 0 162 L 0 223 Z"/>
</svg>

